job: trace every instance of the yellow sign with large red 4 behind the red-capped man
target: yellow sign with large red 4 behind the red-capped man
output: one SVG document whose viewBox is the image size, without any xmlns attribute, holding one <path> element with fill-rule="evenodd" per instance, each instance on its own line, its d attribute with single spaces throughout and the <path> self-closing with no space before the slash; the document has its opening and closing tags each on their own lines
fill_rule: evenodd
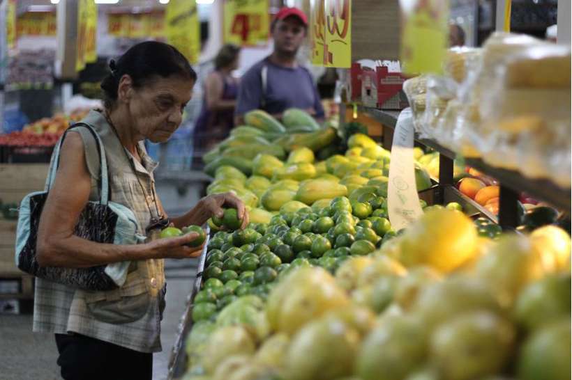
<svg viewBox="0 0 572 380">
<path fill-rule="evenodd" d="M 239 46 L 262 46 L 269 38 L 269 0 L 225 0 L 224 40 Z"/>
</svg>

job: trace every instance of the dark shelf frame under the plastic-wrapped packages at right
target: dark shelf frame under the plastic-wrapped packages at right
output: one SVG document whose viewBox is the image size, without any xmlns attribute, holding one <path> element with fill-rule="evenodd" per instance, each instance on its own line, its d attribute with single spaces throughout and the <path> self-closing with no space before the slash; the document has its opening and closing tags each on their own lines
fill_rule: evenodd
<svg viewBox="0 0 572 380">
<path fill-rule="evenodd" d="M 393 141 L 393 130 L 396 127 L 396 122 L 400 111 L 383 111 L 380 109 L 369 108 L 360 106 L 361 112 L 368 113 L 368 115 L 375 120 L 379 121 L 383 127 L 382 145 L 384 148 L 391 150 L 391 143 Z M 456 157 L 456 152 L 445 148 L 441 144 L 428 138 L 415 138 L 416 145 L 432 148 L 439 152 L 439 187 L 450 187 L 446 192 L 462 194 L 453 186 L 453 159 Z M 527 178 L 524 175 L 516 172 L 509 171 L 502 168 L 495 168 L 483 162 L 481 159 L 466 159 L 467 165 L 476 168 L 476 170 L 489 175 L 499 181 L 500 186 L 500 200 L 499 200 L 499 216 L 498 223 L 505 230 L 512 230 L 518 226 L 518 193 L 525 191 L 531 196 L 539 200 L 543 200 L 559 209 L 569 210 L 571 208 L 571 189 L 562 189 L 549 180 L 535 180 Z M 462 196 L 465 197 L 465 196 Z M 470 200 L 468 197 L 467 200 Z M 443 203 L 444 199 L 439 199 Z M 489 219 L 497 221 L 495 216 L 481 207 L 481 205 L 472 201 L 472 205 L 486 215 Z M 463 206 L 464 207 L 464 206 Z"/>
</svg>

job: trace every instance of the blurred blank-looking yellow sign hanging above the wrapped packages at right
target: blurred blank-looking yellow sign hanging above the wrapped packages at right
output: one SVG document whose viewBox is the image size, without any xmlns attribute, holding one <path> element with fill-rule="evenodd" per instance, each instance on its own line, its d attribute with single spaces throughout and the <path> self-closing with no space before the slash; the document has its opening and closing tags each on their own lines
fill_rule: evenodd
<svg viewBox="0 0 572 380">
<path fill-rule="evenodd" d="M 449 0 L 400 0 L 401 61 L 408 74 L 443 71 L 449 41 Z"/>
</svg>

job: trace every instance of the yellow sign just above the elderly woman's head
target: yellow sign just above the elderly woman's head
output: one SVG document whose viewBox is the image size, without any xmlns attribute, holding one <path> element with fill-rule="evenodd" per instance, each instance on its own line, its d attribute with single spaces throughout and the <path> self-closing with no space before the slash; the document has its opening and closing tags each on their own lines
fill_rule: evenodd
<svg viewBox="0 0 572 380">
<path fill-rule="evenodd" d="M 167 42 L 179 49 L 190 63 L 200 54 L 200 24 L 194 0 L 171 0 L 165 11 Z"/>
</svg>

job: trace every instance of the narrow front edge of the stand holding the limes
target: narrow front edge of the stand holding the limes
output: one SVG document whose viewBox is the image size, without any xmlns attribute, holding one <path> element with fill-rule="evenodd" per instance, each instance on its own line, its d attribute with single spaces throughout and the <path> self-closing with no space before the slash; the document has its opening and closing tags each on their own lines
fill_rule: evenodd
<svg viewBox="0 0 572 380">
<path fill-rule="evenodd" d="M 193 288 L 190 290 L 190 294 L 187 296 L 186 309 L 181 316 L 179 326 L 177 328 L 176 338 L 174 345 L 171 350 L 171 356 L 169 359 L 169 373 L 167 379 L 178 379 L 185 374 L 187 369 L 187 353 L 185 350 L 186 339 L 190 333 L 190 329 L 193 328 L 193 300 L 195 295 L 201 289 L 202 285 L 202 272 L 204 271 L 204 264 L 206 262 L 206 251 L 208 250 L 209 240 L 211 237 L 211 230 L 209 227 L 206 228 L 206 239 L 204 241 L 204 246 L 199 258 L 199 264 L 197 267 L 197 277 L 193 283 Z"/>
</svg>

